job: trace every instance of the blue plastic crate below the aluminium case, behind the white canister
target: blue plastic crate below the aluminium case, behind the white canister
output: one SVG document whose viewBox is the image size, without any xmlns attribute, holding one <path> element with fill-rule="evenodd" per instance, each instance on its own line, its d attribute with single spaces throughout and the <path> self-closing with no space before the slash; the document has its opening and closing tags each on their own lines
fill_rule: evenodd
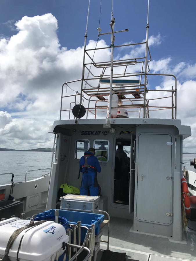
<svg viewBox="0 0 196 261">
<path fill-rule="evenodd" d="M 54 215 L 55 209 L 49 209 L 40 214 L 36 215 L 36 218 L 41 218 L 44 216 Z M 77 221 L 81 221 L 81 226 L 91 227 L 91 224 L 95 224 L 95 235 L 99 234 L 100 224 L 104 220 L 104 215 L 87 213 L 87 212 L 78 212 L 78 211 L 69 211 L 69 210 L 59 210 L 59 217 L 66 218 L 69 224 L 77 225 Z M 81 241 L 84 240 L 87 230 L 81 228 Z"/>
</svg>

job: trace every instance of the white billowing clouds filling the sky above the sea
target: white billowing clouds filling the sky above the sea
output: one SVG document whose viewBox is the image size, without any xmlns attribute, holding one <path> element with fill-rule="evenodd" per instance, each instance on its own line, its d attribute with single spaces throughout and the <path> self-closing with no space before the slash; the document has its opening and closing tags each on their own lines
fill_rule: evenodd
<svg viewBox="0 0 196 261">
<path fill-rule="evenodd" d="M 0 112 L 0 147 L 17 149 L 51 147 L 53 135 L 48 134 L 48 126 L 59 117 L 62 83 L 81 78 L 83 47 L 67 50 L 66 47 L 60 46 L 57 37 L 57 20 L 52 14 L 25 16 L 16 22 L 15 26 L 18 30 L 16 35 L 10 38 L 0 37 L 0 104 L 2 108 L 12 111 Z M 159 46 L 163 38 L 160 34 L 150 36 L 149 46 Z M 87 49 L 94 48 L 95 45 L 96 41 L 90 40 Z M 100 40 L 97 47 L 107 47 L 107 44 Z M 127 54 L 121 57 L 121 51 Z M 120 50 L 118 58 L 129 59 L 142 56 L 144 53 L 145 45 L 125 48 Z M 91 51 L 92 55 L 93 51 Z M 94 60 L 109 61 L 110 50 L 96 51 Z M 196 146 L 194 123 L 196 65 L 188 65 L 185 62 L 176 65 L 172 63 L 172 57 L 152 60 L 149 63 L 150 72 L 171 72 L 180 77 L 177 83 L 177 115 L 178 118 L 181 117 L 182 124 L 193 126 L 193 137 L 184 143 L 188 149 Z M 140 69 L 141 64 L 136 65 L 135 69 L 134 66 L 130 66 L 129 71 Z M 92 71 L 94 74 L 98 73 L 97 69 L 93 68 Z M 148 78 L 150 82 L 150 76 Z M 189 81 L 188 78 L 193 80 Z M 166 90 L 172 85 L 175 86 L 175 83 L 171 78 L 161 78 L 161 83 L 156 89 Z M 70 84 L 70 87 L 80 91 L 78 82 Z M 154 86 L 150 85 L 150 88 Z M 64 88 L 65 94 L 75 94 L 75 92 L 67 88 L 66 93 Z M 170 93 L 164 95 L 166 97 Z M 149 97 L 160 97 L 160 93 L 149 92 L 147 98 Z M 159 104 L 163 102 L 158 101 Z M 70 100 L 65 101 L 66 108 L 69 107 L 69 102 Z M 150 104 L 154 103 L 150 101 Z M 170 104 L 169 99 L 168 104 Z M 156 113 L 157 116 L 168 118 L 170 114 L 169 110 Z M 155 112 L 151 112 L 151 117 L 155 117 Z"/>
</svg>

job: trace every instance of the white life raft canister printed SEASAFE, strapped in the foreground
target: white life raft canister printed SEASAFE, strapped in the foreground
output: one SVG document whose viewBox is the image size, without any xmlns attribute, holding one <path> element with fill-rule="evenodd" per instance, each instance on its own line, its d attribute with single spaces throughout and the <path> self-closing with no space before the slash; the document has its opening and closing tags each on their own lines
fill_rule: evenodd
<svg viewBox="0 0 196 261">
<path fill-rule="evenodd" d="M 0 235 L 2 235 L 0 237 L 0 258 L 5 254 L 12 233 L 29 224 L 29 222 L 30 220 L 21 220 L 19 218 L 9 218 L 0 222 Z M 67 243 L 69 241 L 62 225 L 53 221 L 46 221 L 31 229 L 25 229 L 18 235 L 8 254 L 11 261 L 17 260 L 17 251 L 21 238 L 22 242 L 18 254 L 20 261 L 55 260 L 56 256 L 62 255 L 65 251 L 62 249 L 63 242 Z"/>
</svg>

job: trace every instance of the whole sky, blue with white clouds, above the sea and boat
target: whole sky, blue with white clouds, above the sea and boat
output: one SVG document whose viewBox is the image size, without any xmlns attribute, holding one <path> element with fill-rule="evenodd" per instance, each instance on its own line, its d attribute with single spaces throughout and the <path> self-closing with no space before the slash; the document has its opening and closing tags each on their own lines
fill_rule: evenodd
<svg viewBox="0 0 196 261">
<path fill-rule="evenodd" d="M 145 40 L 147 5 L 147 0 L 114 0 L 115 30 L 129 29 L 116 34 L 115 45 Z M 1 0 L 0 147 L 53 146 L 48 126 L 59 119 L 61 86 L 82 75 L 87 8 L 88 0 Z M 196 152 L 195 10 L 195 0 L 150 0 L 150 72 L 177 77 L 177 118 L 192 130 L 192 136 L 184 140 L 184 152 Z M 99 12 L 100 0 L 91 0 L 87 48 L 95 47 Z M 111 1 L 102 0 L 102 32 L 109 32 L 110 20 Z M 102 37 L 98 47 L 109 44 L 109 37 Z M 114 57 L 126 59 L 143 52 L 143 48 L 122 48 Z M 109 60 L 109 49 L 96 53 L 95 59 Z M 170 78 L 149 81 L 151 89 L 171 85 Z M 74 90 L 80 91 L 80 86 L 75 84 Z M 169 118 L 170 114 L 161 111 L 159 116 Z"/>
</svg>

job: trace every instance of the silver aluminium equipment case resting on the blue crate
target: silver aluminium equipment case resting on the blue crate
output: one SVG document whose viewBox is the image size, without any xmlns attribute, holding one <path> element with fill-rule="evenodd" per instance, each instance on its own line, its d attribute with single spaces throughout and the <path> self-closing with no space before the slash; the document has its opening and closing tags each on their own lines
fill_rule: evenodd
<svg viewBox="0 0 196 261">
<path fill-rule="evenodd" d="M 83 196 L 83 195 L 72 195 L 68 194 L 66 196 L 60 197 L 61 209 L 89 212 L 89 213 L 99 213 L 99 196 Z"/>
</svg>

